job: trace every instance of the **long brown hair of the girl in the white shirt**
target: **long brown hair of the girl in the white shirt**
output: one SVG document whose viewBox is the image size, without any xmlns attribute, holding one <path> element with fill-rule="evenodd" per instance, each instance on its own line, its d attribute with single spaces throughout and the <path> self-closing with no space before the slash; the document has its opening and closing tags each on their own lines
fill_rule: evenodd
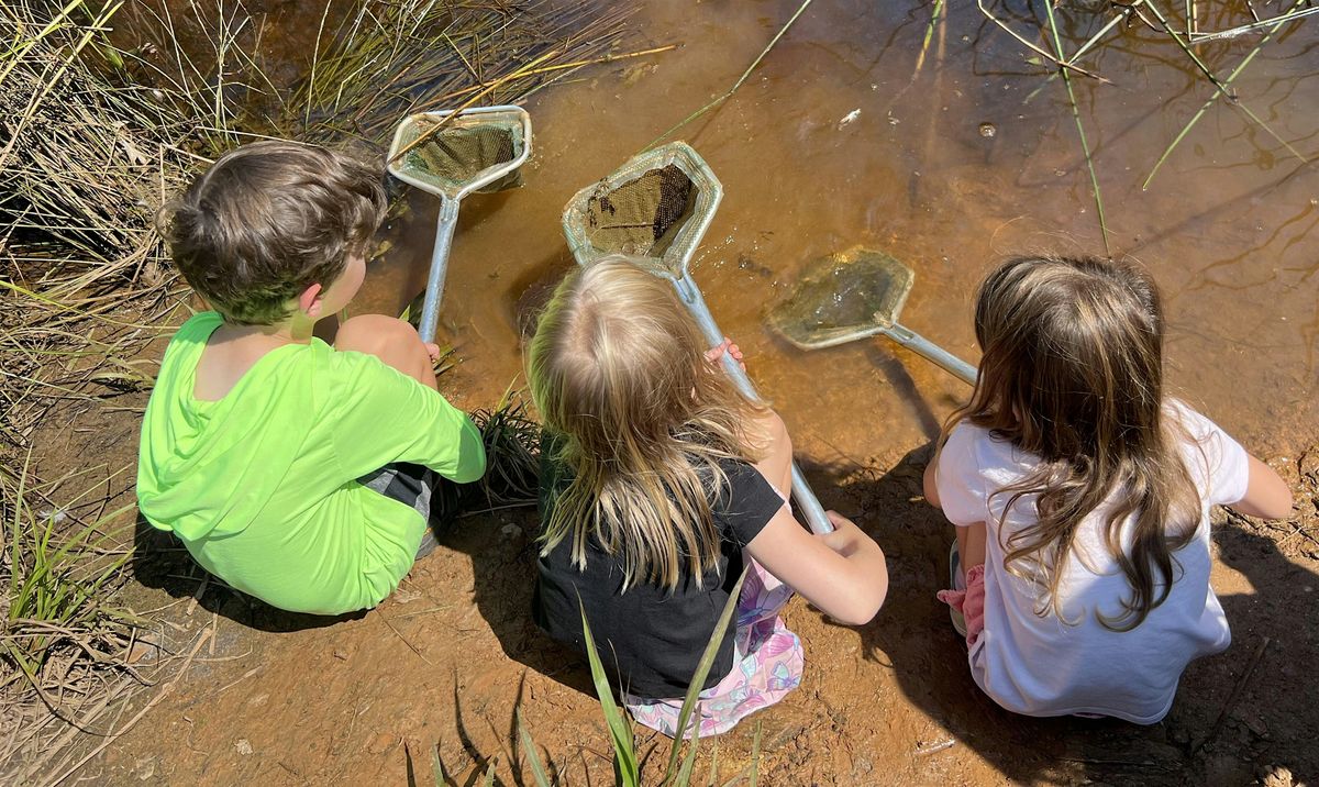
<svg viewBox="0 0 1319 787">
<path fill-rule="evenodd" d="M 1112 497 L 1104 543 L 1132 588 L 1122 613 L 1099 621 L 1138 626 L 1174 581 L 1173 551 L 1199 526 L 1199 496 L 1178 450 L 1183 432 L 1166 413 L 1163 310 L 1149 276 L 1093 258 L 1022 257 L 989 274 L 976 303 L 984 353 L 966 419 L 1041 457 L 1006 494 L 1002 519 L 1035 496 L 1035 522 L 1004 543 L 1016 576 L 1039 583 L 1037 613 L 1063 618 L 1062 566 L 1076 527 Z M 1130 551 L 1124 522 L 1134 515 Z M 1000 530 L 1001 533 L 1001 530 Z"/>
</svg>

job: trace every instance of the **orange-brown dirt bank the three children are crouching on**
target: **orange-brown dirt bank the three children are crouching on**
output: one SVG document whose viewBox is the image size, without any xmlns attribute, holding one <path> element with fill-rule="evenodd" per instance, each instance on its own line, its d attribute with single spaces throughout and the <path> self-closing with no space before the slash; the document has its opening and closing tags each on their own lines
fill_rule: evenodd
<svg viewBox="0 0 1319 787">
<path fill-rule="evenodd" d="M 460 401 L 460 395 L 455 395 Z M 51 436 L 47 469 L 95 455 L 132 459 L 136 418 L 80 417 Z M 860 629 L 794 600 L 806 647 L 801 689 L 716 742 L 698 772 L 747 775 L 756 726 L 764 784 L 1250 784 L 1319 779 L 1319 448 L 1275 457 L 1298 515 L 1261 525 L 1220 513 L 1213 583 L 1233 646 L 1187 670 L 1169 717 L 1033 720 L 981 696 L 934 593 L 947 526 L 921 496 L 923 448 L 867 467 L 810 465 L 824 505 L 853 514 L 885 548 L 892 591 Z M 131 493 L 131 488 L 129 492 Z M 98 784 L 430 784 L 435 747 L 470 784 L 489 762 L 503 784 L 530 780 L 521 708 L 563 784 L 612 782 L 609 742 L 584 659 L 529 620 L 534 511 L 460 519 L 379 609 L 346 618 L 274 610 L 195 568 L 138 529 L 129 604 L 166 606 L 154 642 L 191 654 L 142 692 L 156 705 L 78 774 Z M 194 601 L 197 600 L 197 601 Z M 157 658 L 150 650 L 146 660 Z M 185 659 L 186 660 L 186 659 Z M 88 747 L 96 741 L 88 740 Z M 654 761 L 667 740 L 642 733 Z M 718 753 L 718 762 L 715 757 Z M 1265 778 L 1268 776 L 1268 782 Z"/>
</svg>

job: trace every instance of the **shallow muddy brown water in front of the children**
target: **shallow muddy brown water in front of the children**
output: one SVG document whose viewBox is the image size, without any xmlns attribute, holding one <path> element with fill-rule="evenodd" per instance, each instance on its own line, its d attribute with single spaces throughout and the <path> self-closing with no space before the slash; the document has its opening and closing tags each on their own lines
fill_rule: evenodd
<svg viewBox="0 0 1319 787">
<path fill-rule="evenodd" d="M 446 384 L 455 399 L 488 405 L 522 382 L 520 319 L 571 265 L 559 229 L 568 198 L 727 90 L 797 5 L 649 4 L 645 38 L 681 49 L 533 96 L 525 187 L 463 206 L 441 324 L 462 359 Z M 971 298 L 996 261 L 1104 252 L 1062 82 L 975 5 L 951 5 L 917 73 L 926 4 L 816 3 L 729 102 L 674 136 L 724 186 L 694 277 L 809 464 L 888 463 L 967 394 L 882 340 L 805 353 L 770 335 L 766 310 L 810 260 L 857 244 L 904 260 L 915 270 L 904 322 L 975 363 Z M 1240 22 L 1244 7 L 1217 13 L 1200 26 Z M 1319 153 L 1314 24 L 1273 41 L 1233 87 L 1281 136 Z M 1097 24 L 1074 28 L 1071 49 Z M 1202 54 L 1227 74 L 1249 47 Z M 1290 456 L 1319 434 L 1319 181 L 1219 104 L 1144 191 L 1211 95 L 1184 62 L 1137 24 L 1087 58 L 1113 84 L 1076 80 L 1109 240 L 1165 291 L 1174 389 L 1254 452 Z M 438 206 L 414 204 L 394 227 L 401 250 L 372 273 L 357 308 L 389 311 L 419 289 Z"/>
</svg>

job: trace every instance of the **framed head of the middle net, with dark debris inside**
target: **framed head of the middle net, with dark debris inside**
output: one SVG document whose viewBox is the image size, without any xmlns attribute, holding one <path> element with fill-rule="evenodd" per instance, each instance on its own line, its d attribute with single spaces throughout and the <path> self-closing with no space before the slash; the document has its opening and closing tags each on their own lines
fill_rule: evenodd
<svg viewBox="0 0 1319 787">
<path fill-rule="evenodd" d="M 633 157 L 579 191 L 563 210 L 563 233 L 578 262 L 628 254 L 679 278 L 723 198 L 723 187 L 683 142 Z"/>
</svg>

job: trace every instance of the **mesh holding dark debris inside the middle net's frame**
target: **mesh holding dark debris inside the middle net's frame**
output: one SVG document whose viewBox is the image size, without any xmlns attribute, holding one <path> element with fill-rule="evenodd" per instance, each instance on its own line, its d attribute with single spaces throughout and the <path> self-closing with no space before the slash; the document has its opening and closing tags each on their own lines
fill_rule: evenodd
<svg viewBox="0 0 1319 787">
<path fill-rule="evenodd" d="M 696 206 L 698 189 L 677 165 L 648 170 L 587 202 L 587 237 L 611 253 L 661 257 Z"/>
</svg>

